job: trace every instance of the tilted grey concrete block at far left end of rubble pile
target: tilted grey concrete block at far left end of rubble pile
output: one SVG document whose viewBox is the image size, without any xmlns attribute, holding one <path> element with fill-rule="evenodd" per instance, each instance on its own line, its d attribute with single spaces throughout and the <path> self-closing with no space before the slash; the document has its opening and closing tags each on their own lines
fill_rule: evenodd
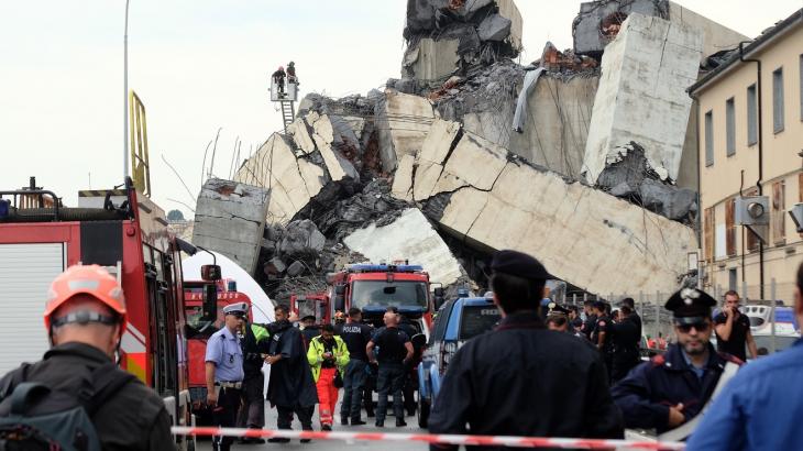
<svg viewBox="0 0 803 451">
<path fill-rule="evenodd" d="M 254 274 L 267 213 L 265 189 L 211 178 L 195 210 L 193 243 L 219 252 Z"/>
</svg>

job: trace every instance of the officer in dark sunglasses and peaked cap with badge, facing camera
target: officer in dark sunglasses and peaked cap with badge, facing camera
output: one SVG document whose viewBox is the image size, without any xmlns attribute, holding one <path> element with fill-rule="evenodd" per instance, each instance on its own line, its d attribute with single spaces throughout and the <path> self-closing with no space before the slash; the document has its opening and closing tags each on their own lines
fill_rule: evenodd
<svg viewBox="0 0 803 451">
<path fill-rule="evenodd" d="M 672 295 L 664 307 L 674 315 L 676 344 L 666 354 L 634 369 L 613 389 L 628 428 L 654 428 L 659 433 L 695 417 L 711 398 L 727 362 L 708 341 L 714 298 L 695 288 Z"/>
</svg>

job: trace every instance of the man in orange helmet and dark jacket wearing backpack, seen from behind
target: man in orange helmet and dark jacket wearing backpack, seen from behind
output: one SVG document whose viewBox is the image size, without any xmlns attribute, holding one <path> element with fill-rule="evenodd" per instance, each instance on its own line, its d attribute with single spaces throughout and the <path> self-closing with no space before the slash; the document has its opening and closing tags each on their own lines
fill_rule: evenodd
<svg viewBox="0 0 803 451">
<path fill-rule="evenodd" d="M 114 363 L 127 326 L 114 277 L 98 265 L 69 267 L 51 285 L 44 320 L 51 350 L 0 380 L 7 449 L 175 449 L 162 398 Z"/>
</svg>

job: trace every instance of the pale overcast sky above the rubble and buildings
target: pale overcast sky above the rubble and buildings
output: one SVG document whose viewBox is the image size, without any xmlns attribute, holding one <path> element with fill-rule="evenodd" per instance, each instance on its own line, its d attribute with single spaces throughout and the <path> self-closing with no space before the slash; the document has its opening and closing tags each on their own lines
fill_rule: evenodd
<svg viewBox="0 0 803 451">
<path fill-rule="evenodd" d="M 675 0 L 747 36 L 803 0 Z M 517 0 L 521 62 L 572 46 L 580 1 Z M 189 207 L 206 175 L 282 129 L 268 75 L 296 63 L 300 96 L 365 95 L 399 77 L 406 0 L 131 0 L 129 87 L 146 108 L 153 200 Z M 75 206 L 123 179 L 124 0 L 0 0 L 0 190 L 37 185 Z M 300 98 L 299 96 L 299 98 Z M 167 161 L 182 176 L 188 190 Z M 207 168 L 211 151 L 207 156 Z M 188 207 L 189 206 L 189 207 Z"/>
</svg>

